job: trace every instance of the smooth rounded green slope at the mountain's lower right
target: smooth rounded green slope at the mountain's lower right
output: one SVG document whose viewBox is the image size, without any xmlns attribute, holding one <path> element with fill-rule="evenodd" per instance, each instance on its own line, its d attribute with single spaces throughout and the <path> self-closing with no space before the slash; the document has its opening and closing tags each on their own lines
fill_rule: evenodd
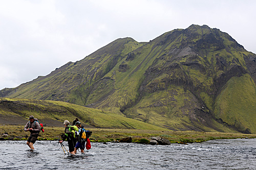
<svg viewBox="0 0 256 170">
<path fill-rule="evenodd" d="M 231 78 L 218 96 L 215 114 L 223 122 L 241 131 L 256 133 L 256 88 L 248 74 Z"/>
</svg>

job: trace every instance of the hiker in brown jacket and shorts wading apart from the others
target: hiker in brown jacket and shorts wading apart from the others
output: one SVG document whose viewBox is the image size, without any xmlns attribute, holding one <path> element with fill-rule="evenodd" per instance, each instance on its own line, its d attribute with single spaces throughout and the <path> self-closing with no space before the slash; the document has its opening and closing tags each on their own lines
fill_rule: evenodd
<svg viewBox="0 0 256 170">
<path fill-rule="evenodd" d="M 40 129 L 39 123 L 35 121 L 35 118 L 33 115 L 30 115 L 28 119 L 29 119 L 29 122 L 26 124 L 24 131 L 30 132 L 30 136 L 27 140 L 27 145 L 31 150 L 34 150 L 33 144 L 35 143 L 41 129 Z"/>
</svg>

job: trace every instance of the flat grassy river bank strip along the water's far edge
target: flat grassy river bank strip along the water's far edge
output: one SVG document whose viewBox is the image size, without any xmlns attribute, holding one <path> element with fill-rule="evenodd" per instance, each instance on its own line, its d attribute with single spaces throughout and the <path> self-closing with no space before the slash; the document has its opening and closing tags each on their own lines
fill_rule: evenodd
<svg viewBox="0 0 256 170">
<path fill-rule="evenodd" d="M 44 127 L 45 132 L 40 132 L 38 140 L 58 140 L 64 127 Z M 132 137 L 132 142 L 149 143 L 151 137 L 160 136 L 171 143 L 203 142 L 213 139 L 256 138 L 256 134 L 196 132 L 196 131 L 154 131 L 138 129 L 99 129 L 90 128 L 92 131 L 91 142 L 111 142 L 124 137 Z M 0 125 L 0 140 L 27 140 L 29 132 L 24 131 L 22 125 Z"/>
</svg>

